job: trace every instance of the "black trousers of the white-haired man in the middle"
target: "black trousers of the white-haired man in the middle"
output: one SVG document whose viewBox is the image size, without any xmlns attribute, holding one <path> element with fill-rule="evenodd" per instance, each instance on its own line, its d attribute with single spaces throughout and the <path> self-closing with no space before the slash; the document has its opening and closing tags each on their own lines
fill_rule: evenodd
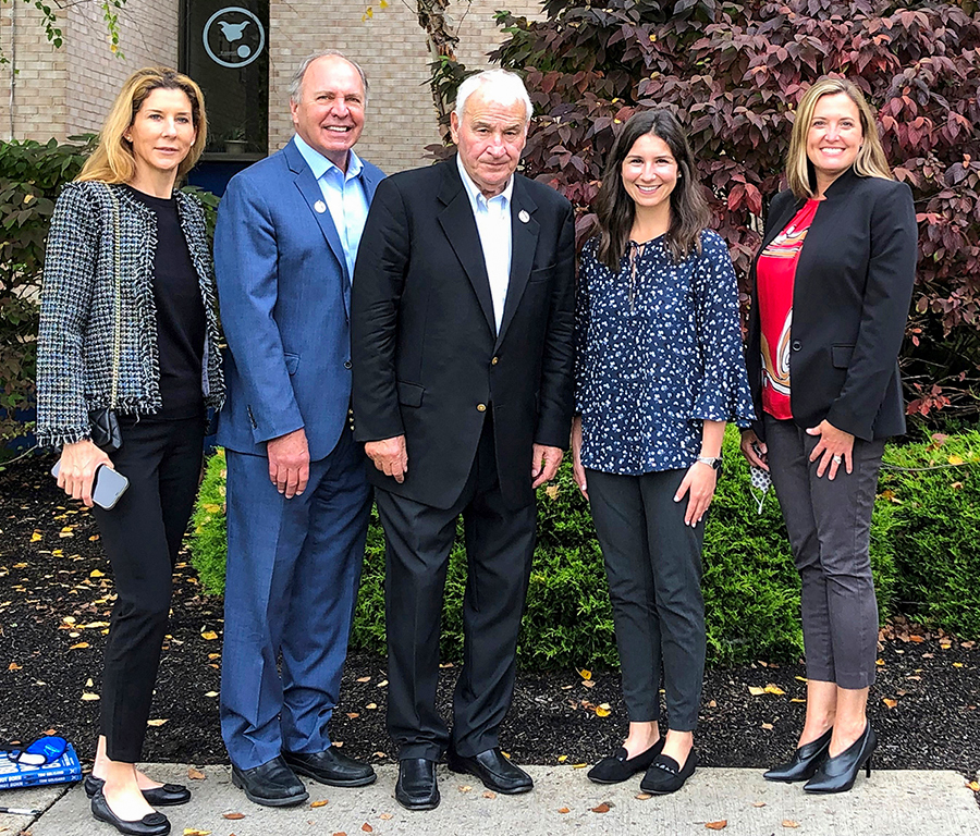
<svg viewBox="0 0 980 836">
<path fill-rule="evenodd" d="M 514 693 L 536 506 L 515 511 L 503 504 L 493 446 L 488 418 L 469 479 L 449 509 L 384 490 L 375 494 L 387 543 L 388 733 L 401 759 L 438 760 L 450 743 L 436 710 L 436 687 L 445 574 L 461 514 L 467 580 L 452 745 L 464 757 L 500 745 L 498 732 Z"/>
</svg>

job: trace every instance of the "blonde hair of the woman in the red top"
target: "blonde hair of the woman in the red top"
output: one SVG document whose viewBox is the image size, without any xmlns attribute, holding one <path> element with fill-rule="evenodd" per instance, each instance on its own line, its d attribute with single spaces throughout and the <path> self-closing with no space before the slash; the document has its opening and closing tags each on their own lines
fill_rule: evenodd
<svg viewBox="0 0 980 836">
<path fill-rule="evenodd" d="M 820 78 L 806 91 L 796 112 L 793 134 L 789 137 L 789 152 L 786 155 L 786 180 L 789 188 L 799 199 L 817 196 L 813 163 L 807 157 L 807 135 L 813 121 L 817 102 L 824 96 L 845 94 L 857 107 L 861 122 L 862 143 L 854 161 L 855 172 L 862 177 L 892 180 L 892 171 L 881 147 L 874 113 L 860 88 L 846 78 Z"/>
</svg>

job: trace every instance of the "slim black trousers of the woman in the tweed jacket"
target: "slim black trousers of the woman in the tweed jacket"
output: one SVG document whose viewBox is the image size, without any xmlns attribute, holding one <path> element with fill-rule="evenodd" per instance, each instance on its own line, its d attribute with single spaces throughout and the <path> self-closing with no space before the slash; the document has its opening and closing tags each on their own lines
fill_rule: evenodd
<svg viewBox="0 0 980 836">
<path fill-rule="evenodd" d="M 136 763 L 167 634 L 173 566 L 197 495 L 205 420 L 121 417 L 120 425 L 123 445 L 110 457 L 130 487 L 112 511 L 93 508 L 118 595 L 100 732 L 111 760 Z"/>
</svg>

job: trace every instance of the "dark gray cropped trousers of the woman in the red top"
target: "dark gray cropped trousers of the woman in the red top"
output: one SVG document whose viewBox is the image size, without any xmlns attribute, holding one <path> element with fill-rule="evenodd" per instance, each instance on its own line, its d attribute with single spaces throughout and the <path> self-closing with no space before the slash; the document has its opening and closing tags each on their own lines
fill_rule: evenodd
<svg viewBox="0 0 980 836">
<path fill-rule="evenodd" d="M 803 582 L 807 678 L 841 688 L 874 683 L 878 600 L 871 577 L 871 512 L 884 441 L 854 441 L 854 470 L 817 477 L 819 435 L 765 416 L 772 485 Z"/>
</svg>

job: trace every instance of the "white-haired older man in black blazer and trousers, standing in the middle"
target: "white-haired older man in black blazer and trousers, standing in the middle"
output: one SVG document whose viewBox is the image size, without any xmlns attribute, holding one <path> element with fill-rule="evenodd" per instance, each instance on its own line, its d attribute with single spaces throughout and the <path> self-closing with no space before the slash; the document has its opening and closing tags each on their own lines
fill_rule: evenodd
<svg viewBox="0 0 980 836">
<path fill-rule="evenodd" d="M 355 435 L 388 544 L 388 726 L 397 800 L 439 803 L 436 762 L 498 792 L 531 789 L 500 751 L 535 549 L 535 489 L 572 420 L 574 223 L 516 174 L 531 104 L 519 77 L 466 79 L 458 153 L 379 185 L 354 274 Z M 462 514 L 469 576 L 453 729 L 436 711 L 449 553 Z"/>
</svg>

